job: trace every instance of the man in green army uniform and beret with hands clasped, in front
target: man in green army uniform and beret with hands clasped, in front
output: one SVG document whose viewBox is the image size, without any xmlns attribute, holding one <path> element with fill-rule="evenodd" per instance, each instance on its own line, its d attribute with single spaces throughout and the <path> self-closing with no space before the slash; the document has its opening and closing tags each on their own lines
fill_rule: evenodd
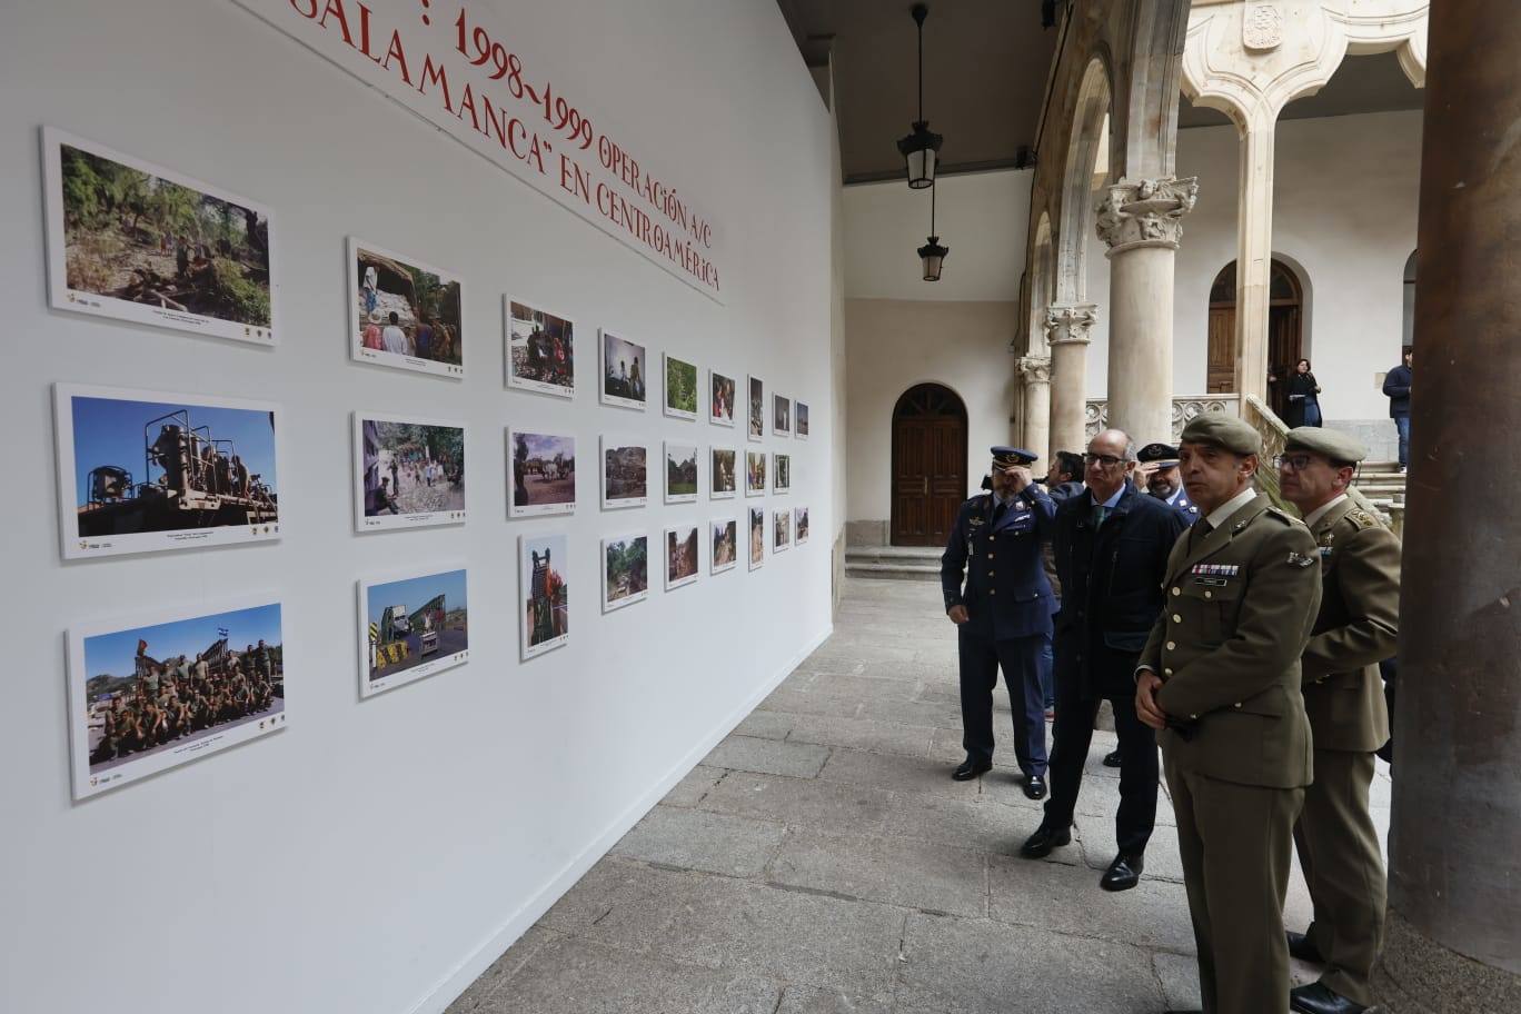
<svg viewBox="0 0 1521 1014">
<path fill-rule="evenodd" d="M 1320 607 L 1310 529 L 1258 496 L 1262 441 L 1194 418 L 1179 450 L 1200 520 L 1167 561 L 1162 614 L 1136 667 L 1161 730 L 1206 1014 L 1284 1014 L 1284 895 L 1311 780 L 1299 657 Z"/>
</svg>

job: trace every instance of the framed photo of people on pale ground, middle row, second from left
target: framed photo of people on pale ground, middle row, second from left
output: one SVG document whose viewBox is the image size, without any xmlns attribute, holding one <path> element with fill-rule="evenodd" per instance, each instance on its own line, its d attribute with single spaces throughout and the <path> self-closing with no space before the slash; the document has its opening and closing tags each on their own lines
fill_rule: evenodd
<svg viewBox="0 0 1521 1014">
<path fill-rule="evenodd" d="M 354 531 L 464 521 L 464 424 L 354 412 Z"/>
</svg>

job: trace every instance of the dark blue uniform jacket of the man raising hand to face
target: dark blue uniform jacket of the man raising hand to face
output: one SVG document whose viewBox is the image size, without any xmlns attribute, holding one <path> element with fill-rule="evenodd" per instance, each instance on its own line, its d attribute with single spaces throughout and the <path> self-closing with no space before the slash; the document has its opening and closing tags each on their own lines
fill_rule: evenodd
<svg viewBox="0 0 1521 1014">
<path fill-rule="evenodd" d="M 1015 497 L 996 531 L 993 506 L 993 494 L 984 493 L 957 512 L 940 556 L 946 611 L 964 605 L 972 632 L 993 640 L 1049 635 L 1056 607 L 1040 543 L 1051 535 L 1056 503 L 1031 485 Z"/>
</svg>

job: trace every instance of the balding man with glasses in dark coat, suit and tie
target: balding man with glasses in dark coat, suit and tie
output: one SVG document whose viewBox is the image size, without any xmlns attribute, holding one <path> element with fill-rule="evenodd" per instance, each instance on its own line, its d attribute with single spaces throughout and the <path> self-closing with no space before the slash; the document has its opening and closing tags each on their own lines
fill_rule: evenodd
<svg viewBox="0 0 1521 1014">
<path fill-rule="evenodd" d="M 1088 491 L 1056 512 L 1053 546 L 1062 579 L 1056 619 L 1056 728 L 1051 798 L 1021 854 L 1036 859 L 1072 841 L 1072 812 L 1098 702 L 1109 699 L 1119 736 L 1118 854 L 1100 880 L 1107 891 L 1133 888 L 1156 824 L 1154 733 L 1136 718 L 1135 669 L 1162 611 L 1162 578 L 1183 512 L 1130 483 L 1130 436 L 1106 430 L 1088 444 Z"/>
</svg>

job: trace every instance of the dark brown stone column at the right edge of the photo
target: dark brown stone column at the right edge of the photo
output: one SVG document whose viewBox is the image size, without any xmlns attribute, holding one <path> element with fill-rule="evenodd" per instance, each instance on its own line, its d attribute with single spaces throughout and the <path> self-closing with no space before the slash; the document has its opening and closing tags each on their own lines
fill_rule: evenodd
<svg viewBox="0 0 1521 1014">
<path fill-rule="evenodd" d="M 1431 6 L 1405 520 L 1418 538 L 1373 971 L 1392 1014 L 1521 1011 L 1518 52 L 1513 0 Z"/>
</svg>

